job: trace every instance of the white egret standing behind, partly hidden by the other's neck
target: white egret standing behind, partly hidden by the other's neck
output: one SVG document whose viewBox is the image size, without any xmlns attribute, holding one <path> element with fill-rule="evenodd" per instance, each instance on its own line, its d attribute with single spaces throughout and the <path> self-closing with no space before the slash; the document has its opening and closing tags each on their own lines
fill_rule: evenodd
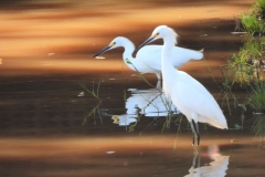
<svg viewBox="0 0 265 177">
<path fill-rule="evenodd" d="M 137 52 L 136 58 L 132 58 L 132 52 L 135 51 L 134 43 L 127 38 L 117 37 L 109 43 L 108 46 L 97 52 L 93 58 L 119 46 L 125 49 L 123 59 L 125 64 L 130 70 L 138 71 L 140 73 L 155 73 L 158 80 L 161 80 L 160 73 L 162 45 L 147 45 Z M 203 58 L 203 50 L 194 51 L 174 46 L 170 52 L 173 56 L 171 62 L 173 66 L 178 69 L 192 59 L 201 60 Z"/>
</svg>

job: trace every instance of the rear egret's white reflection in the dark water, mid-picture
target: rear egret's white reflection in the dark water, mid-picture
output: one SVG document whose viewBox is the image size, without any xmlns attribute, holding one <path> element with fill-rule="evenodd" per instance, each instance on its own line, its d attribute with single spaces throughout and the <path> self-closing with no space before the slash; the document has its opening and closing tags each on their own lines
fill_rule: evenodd
<svg viewBox="0 0 265 177">
<path fill-rule="evenodd" d="M 166 103 L 165 94 L 158 88 L 137 90 L 129 88 L 131 96 L 126 100 L 126 114 L 112 115 L 114 124 L 126 126 L 135 123 L 140 116 L 161 117 L 180 112 L 172 104 Z"/>
</svg>

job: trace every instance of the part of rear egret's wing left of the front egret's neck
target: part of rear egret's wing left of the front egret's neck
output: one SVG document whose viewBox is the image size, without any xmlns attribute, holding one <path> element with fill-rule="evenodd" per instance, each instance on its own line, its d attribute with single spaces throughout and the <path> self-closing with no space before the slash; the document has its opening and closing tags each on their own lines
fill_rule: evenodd
<svg viewBox="0 0 265 177">
<path fill-rule="evenodd" d="M 161 71 L 161 53 L 162 45 L 146 45 L 137 52 L 136 59 L 155 70 Z"/>
</svg>

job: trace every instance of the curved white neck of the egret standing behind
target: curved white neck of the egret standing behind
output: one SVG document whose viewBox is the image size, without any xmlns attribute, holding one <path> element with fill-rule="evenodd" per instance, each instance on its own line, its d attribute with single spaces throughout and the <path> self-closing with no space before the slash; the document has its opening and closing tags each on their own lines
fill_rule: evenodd
<svg viewBox="0 0 265 177">
<path fill-rule="evenodd" d="M 124 62 L 126 63 L 126 65 L 128 67 L 130 67 L 131 70 L 135 70 L 135 67 L 131 64 L 129 64 L 127 61 L 127 60 L 129 60 L 134 64 L 132 52 L 135 51 L 135 45 L 129 40 L 125 40 L 124 48 L 125 48 L 125 51 L 123 54 Z"/>
</svg>

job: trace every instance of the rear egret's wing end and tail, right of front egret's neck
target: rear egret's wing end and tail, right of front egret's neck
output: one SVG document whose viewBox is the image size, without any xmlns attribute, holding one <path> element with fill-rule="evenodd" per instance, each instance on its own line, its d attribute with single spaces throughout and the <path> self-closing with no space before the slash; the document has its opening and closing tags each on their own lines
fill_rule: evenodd
<svg viewBox="0 0 265 177">
<path fill-rule="evenodd" d="M 201 60 L 202 58 L 202 51 L 194 51 L 180 46 L 174 46 L 171 50 L 171 61 L 174 67 L 180 67 L 188 63 L 190 60 Z"/>
</svg>

